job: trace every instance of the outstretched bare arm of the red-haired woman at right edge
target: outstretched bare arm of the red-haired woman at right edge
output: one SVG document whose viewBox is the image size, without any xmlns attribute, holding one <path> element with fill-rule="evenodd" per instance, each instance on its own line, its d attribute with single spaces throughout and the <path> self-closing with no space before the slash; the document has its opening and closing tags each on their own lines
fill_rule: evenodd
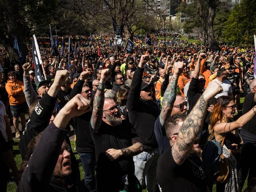
<svg viewBox="0 0 256 192">
<path fill-rule="evenodd" d="M 214 132 L 217 134 L 231 132 L 235 129 L 243 127 L 252 117 L 256 114 L 256 106 L 254 106 L 249 112 L 239 117 L 236 121 L 231 123 L 219 123 L 214 126 Z"/>
</svg>

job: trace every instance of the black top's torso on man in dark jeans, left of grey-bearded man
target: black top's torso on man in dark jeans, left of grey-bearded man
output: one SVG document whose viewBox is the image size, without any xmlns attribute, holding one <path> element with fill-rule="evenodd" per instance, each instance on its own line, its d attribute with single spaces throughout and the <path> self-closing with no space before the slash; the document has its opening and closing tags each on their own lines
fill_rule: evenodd
<svg viewBox="0 0 256 192">
<path fill-rule="evenodd" d="M 76 128 L 76 151 L 80 153 L 92 153 L 95 151 L 92 136 L 89 130 L 89 122 L 92 112 L 87 112 L 79 117 L 74 117 Z"/>
</svg>

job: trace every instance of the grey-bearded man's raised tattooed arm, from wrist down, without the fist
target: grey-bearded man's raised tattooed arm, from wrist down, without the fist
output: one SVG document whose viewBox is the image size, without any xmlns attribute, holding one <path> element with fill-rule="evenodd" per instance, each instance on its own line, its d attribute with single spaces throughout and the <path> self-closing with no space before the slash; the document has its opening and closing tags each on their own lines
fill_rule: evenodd
<svg viewBox="0 0 256 192">
<path fill-rule="evenodd" d="M 93 111 L 91 117 L 92 128 L 97 131 L 102 121 L 103 104 L 104 104 L 104 88 L 105 84 L 99 83 L 99 87 L 95 93 L 93 100 Z"/>
</svg>

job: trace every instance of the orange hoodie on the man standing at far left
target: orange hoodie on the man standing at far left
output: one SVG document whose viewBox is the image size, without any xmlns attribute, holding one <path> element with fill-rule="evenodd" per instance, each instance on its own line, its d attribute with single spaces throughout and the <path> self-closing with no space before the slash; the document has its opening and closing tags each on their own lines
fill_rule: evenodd
<svg viewBox="0 0 256 192">
<path fill-rule="evenodd" d="M 22 104 L 26 101 L 24 94 L 24 84 L 21 81 L 16 80 L 15 82 L 8 80 L 6 84 L 6 91 L 9 96 L 10 105 Z"/>
</svg>

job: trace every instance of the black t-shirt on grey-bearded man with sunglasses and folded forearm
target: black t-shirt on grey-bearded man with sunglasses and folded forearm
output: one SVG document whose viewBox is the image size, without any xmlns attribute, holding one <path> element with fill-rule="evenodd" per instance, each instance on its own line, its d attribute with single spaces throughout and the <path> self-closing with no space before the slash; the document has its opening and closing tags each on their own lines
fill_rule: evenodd
<svg viewBox="0 0 256 192">
<path fill-rule="evenodd" d="M 95 146 L 97 188 L 122 185 L 123 177 L 134 175 L 133 157 L 121 156 L 117 160 L 110 161 L 106 151 L 131 146 L 131 139 L 138 137 L 133 125 L 125 120 L 121 125 L 112 127 L 102 121 L 98 132 L 92 129 L 91 123 L 89 123 L 89 129 Z"/>
</svg>

